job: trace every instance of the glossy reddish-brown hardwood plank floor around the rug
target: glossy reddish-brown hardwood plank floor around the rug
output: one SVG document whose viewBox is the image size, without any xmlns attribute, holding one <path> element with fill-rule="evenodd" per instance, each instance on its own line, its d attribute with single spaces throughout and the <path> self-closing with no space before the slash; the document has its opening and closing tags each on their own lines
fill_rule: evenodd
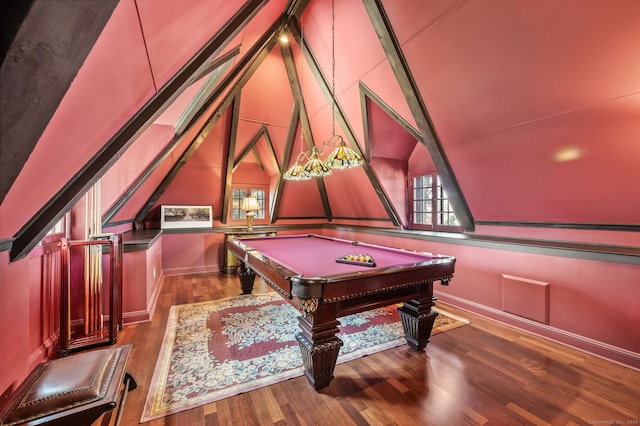
<svg viewBox="0 0 640 426">
<path fill-rule="evenodd" d="M 134 346 L 138 381 L 122 425 L 136 425 L 172 305 L 240 293 L 236 276 L 164 279 L 151 322 L 125 326 L 118 344 Z M 270 291 L 256 280 L 254 292 Z M 471 320 L 407 346 L 339 364 L 316 392 L 305 377 L 268 386 L 146 425 L 634 425 L 640 372 L 439 304 Z M 631 325 L 630 325 L 631 326 Z"/>
</svg>

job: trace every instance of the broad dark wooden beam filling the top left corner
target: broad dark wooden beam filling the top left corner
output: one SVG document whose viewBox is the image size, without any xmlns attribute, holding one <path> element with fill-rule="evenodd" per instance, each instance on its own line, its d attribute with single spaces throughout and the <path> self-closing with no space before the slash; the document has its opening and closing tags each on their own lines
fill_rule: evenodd
<svg viewBox="0 0 640 426">
<path fill-rule="evenodd" d="M 117 4 L 2 2 L 0 203 Z"/>
</svg>

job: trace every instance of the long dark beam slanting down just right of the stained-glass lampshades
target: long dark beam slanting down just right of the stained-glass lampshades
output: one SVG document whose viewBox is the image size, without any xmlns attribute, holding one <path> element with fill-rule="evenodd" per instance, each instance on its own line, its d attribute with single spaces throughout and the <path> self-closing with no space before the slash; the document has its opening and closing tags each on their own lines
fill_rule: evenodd
<svg viewBox="0 0 640 426">
<path fill-rule="evenodd" d="M 302 39 L 302 37 L 300 34 L 300 26 L 298 22 L 297 21 L 292 22 L 290 24 L 290 29 L 294 33 L 296 41 L 300 43 L 300 40 Z M 304 57 L 307 61 L 307 64 L 309 64 L 309 68 L 311 69 L 311 72 L 313 73 L 316 79 L 316 82 L 320 87 L 320 90 L 322 90 L 322 93 L 327 99 L 327 102 L 333 105 L 334 94 L 332 92 L 332 88 L 329 85 L 329 81 L 327 80 L 322 70 L 320 69 L 320 65 L 318 64 L 318 61 L 316 60 L 316 57 L 313 55 L 313 52 L 311 51 L 311 48 L 307 44 L 306 40 L 304 41 L 304 46 L 302 50 L 303 50 Z M 333 112 L 335 113 L 336 121 L 342 128 L 342 131 L 345 133 L 345 138 L 351 143 L 351 148 L 356 153 L 358 153 L 358 155 L 364 157 L 362 149 L 360 148 L 360 143 L 358 142 L 358 138 L 356 137 L 356 134 L 353 131 L 351 124 L 347 120 L 344 114 L 344 111 L 342 110 L 342 107 L 340 106 L 340 103 L 338 102 L 337 99 L 335 99 L 335 108 Z M 371 186 L 373 186 L 373 189 L 378 195 L 378 199 L 382 203 L 384 209 L 386 210 L 393 224 L 395 226 L 401 226 L 401 221 L 398 217 L 398 213 L 396 212 L 395 208 L 393 207 L 393 204 L 389 200 L 389 197 L 384 191 L 384 188 L 380 184 L 380 181 L 378 180 L 377 176 L 375 175 L 375 173 L 373 173 L 373 170 L 371 170 L 369 163 L 365 161 L 362 164 L 362 169 L 364 170 L 365 174 L 369 178 L 369 182 L 371 183 Z"/>
</svg>

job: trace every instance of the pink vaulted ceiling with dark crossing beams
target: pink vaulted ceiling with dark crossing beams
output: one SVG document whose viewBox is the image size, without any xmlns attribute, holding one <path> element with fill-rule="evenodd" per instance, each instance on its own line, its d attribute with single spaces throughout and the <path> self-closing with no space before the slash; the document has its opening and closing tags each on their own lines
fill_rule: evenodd
<svg viewBox="0 0 640 426">
<path fill-rule="evenodd" d="M 336 0 L 333 26 L 329 0 L 14 3 L 0 145 L 13 259 L 99 178 L 111 224 L 160 204 L 210 204 L 226 223 L 231 188 L 253 181 L 272 223 L 403 227 L 408 173 L 429 170 L 466 232 L 640 224 L 635 0 Z M 283 181 L 333 126 L 364 167 Z"/>
</svg>

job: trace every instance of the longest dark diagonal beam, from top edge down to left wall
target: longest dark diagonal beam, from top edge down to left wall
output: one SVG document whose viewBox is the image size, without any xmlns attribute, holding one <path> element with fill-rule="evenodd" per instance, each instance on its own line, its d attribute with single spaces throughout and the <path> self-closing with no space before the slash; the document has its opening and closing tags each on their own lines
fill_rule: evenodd
<svg viewBox="0 0 640 426">
<path fill-rule="evenodd" d="M 73 179 L 67 182 L 65 187 L 18 231 L 9 256 L 11 261 L 23 258 L 38 244 L 49 229 L 82 198 L 95 181 L 109 170 L 131 143 L 188 87 L 190 78 L 200 71 L 206 61 L 219 55 L 267 2 L 268 0 L 247 1 L 220 31 L 76 173 Z M 76 4 L 76 2 L 73 3 Z"/>
</svg>

